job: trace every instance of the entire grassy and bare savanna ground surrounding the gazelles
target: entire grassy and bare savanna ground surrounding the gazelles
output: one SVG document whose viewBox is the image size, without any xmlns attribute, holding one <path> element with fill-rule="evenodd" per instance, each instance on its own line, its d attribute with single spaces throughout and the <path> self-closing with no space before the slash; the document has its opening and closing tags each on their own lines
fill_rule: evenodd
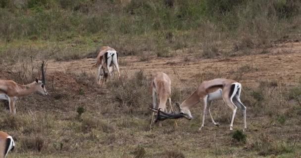
<svg viewBox="0 0 301 158">
<path fill-rule="evenodd" d="M 48 59 L 50 93 L 19 98 L 16 116 L 0 102 L 0 130 L 16 142 L 8 158 L 300 157 L 300 8 L 299 0 L 0 0 L 0 79 L 30 83 Z M 122 76 L 99 87 L 91 66 L 104 45 L 118 51 Z M 204 80 L 241 82 L 247 131 L 228 131 L 222 100 L 211 107 L 220 127 L 207 117 L 198 130 L 201 104 L 178 128 L 164 120 L 149 131 L 156 71 L 170 76 L 173 104 Z"/>
</svg>

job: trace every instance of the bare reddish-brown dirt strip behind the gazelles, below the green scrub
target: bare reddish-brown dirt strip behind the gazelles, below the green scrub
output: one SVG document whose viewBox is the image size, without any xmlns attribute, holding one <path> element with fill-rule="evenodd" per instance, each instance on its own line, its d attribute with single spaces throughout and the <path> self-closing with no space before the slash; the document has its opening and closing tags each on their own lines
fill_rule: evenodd
<svg viewBox="0 0 301 158">
<path fill-rule="evenodd" d="M 294 84 L 301 76 L 301 42 L 275 44 L 267 49 L 269 53 L 259 55 L 217 57 L 216 59 L 201 59 L 194 54 L 179 52 L 168 58 L 152 56 L 147 62 L 139 57 L 120 57 L 120 70 L 127 75 L 137 70 L 147 74 L 164 72 L 168 74 L 175 85 L 200 81 L 201 74 L 219 74 L 218 78 L 235 78 L 237 73 L 243 74 L 239 80 L 245 85 L 256 84 L 260 80 L 282 80 Z M 188 61 L 184 61 L 185 58 Z M 50 61 L 49 71 L 88 72 L 96 75 L 97 68 L 91 67 L 95 59 L 56 62 Z M 238 72 L 240 71 L 240 72 Z M 199 78 L 199 79 L 198 79 Z"/>
</svg>

